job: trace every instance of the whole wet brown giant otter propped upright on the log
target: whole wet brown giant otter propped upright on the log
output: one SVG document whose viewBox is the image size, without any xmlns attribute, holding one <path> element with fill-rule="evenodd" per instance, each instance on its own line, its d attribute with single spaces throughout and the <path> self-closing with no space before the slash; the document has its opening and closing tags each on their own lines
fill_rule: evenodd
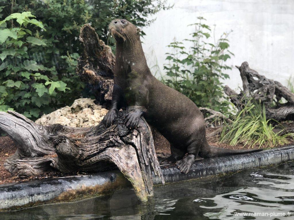
<svg viewBox="0 0 294 220">
<path fill-rule="evenodd" d="M 109 31 L 116 40 L 116 62 L 112 104 L 103 119 L 105 126 L 113 123 L 122 107 L 131 110 L 126 117 L 129 128 L 135 128 L 144 116 L 171 143 L 172 155 L 163 163 L 177 161 L 176 165 L 184 173 L 189 172 L 198 154 L 211 158 L 255 151 L 208 145 L 204 117 L 196 104 L 151 74 L 140 29 L 125 19 L 116 19 L 109 24 Z"/>
</svg>

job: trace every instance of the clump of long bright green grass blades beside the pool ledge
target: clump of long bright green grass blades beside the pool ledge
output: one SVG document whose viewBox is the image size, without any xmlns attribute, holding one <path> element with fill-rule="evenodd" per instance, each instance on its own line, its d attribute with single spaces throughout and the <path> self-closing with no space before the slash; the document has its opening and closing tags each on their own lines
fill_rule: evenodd
<svg viewBox="0 0 294 220">
<path fill-rule="evenodd" d="M 275 122 L 277 125 L 273 126 L 270 122 Z M 294 137 L 293 133 L 281 135 L 284 129 L 275 133 L 273 131 L 275 127 L 282 127 L 282 125 L 278 121 L 267 120 L 265 106 L 250 99 L 232 122 L 225 122 L 220 134 L 220 142 L 233 146 L 242 143 L 248 148 L 254 145 L 258 145 L 259 148 L 262 146 L 275 147 L 289 143 L 289 140 Z"/>
</svg>

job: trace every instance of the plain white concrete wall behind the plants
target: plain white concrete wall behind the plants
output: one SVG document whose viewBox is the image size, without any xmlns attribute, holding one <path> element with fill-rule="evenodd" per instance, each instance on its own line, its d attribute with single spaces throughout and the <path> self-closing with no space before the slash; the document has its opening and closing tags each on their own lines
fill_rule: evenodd
<svg viewBox="0 0 294 220">
<path fill-rule="evenodd" d="M 144 27 L 142 41 L 149 66 L 157 60 L 161 73 L 166 46 L 174 39 L 189 37 L 198 16 L 214 28 L 219 37 L 233 30 L 228 36 L 230 50 L 235 54 L 227 64 L 231 67 L 248 61 L 251 68 L 270 79 L 286 85 L 293 73 L 294 64 L 294 0 L 168 0 L 174 4 L 167 11 L 160 11 L 152 18 L 156 21 Z M 226 72 L 230 79 L 225 84 L 231 88 L 242 86 L 239 71 Z"/>
</svg>

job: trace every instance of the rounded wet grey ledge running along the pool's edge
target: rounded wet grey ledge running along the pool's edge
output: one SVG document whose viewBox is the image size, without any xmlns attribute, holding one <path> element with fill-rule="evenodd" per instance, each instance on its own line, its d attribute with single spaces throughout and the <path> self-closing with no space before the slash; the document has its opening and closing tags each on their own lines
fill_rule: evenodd
<svg viewBox="0 0 294 220">
<path fill-rule="evenodd" d="M 165 182 L 179 182 L 197 179 L 248 168 L 277 165 L 294 160 L 294 145 L 263 150 L 247 154 L 196 160 L 188 174 L 183 174 L 175 165 L 161 167 Z M 161 180 L 154 176 L 153 183 Z M 0 211 L 30 207 L 50 201 L 72 201 L 87 195 L 93 197 L 109 190 L 129 186 L 129 182 L 118 171 L 112 170 L 94 175 L 59 177 L 31 180 L 0 185 Z"/>
</svg>

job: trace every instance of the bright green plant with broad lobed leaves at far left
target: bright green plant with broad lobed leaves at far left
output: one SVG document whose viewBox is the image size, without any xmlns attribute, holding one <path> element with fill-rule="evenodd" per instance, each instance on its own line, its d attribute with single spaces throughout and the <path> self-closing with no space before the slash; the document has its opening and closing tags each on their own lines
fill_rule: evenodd
<svg viewBox="0 0 294 220">
<path fill-rule="evenodd" d="M 0 21 L 0 110 L 36 119 L 52 111 L 50 106 L 69 88 L 58 80 L 54 66 L 38 64 L 42 57 L 34 51 L 46 48 L 46 39 L 41 39 L 39 31 L 32 33 L 34 26 L 46 31 L 31 12 L 13 13 Z"/>
</svg>

